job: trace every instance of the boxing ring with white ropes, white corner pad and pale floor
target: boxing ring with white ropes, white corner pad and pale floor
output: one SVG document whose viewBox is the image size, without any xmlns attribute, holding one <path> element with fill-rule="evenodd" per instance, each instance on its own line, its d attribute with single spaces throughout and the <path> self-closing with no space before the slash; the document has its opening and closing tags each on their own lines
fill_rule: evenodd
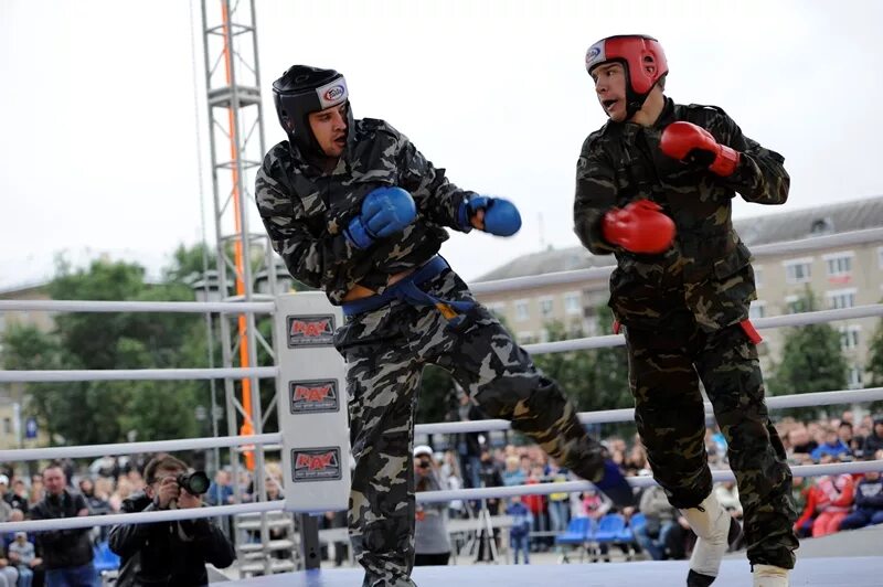
<svg viewBox="0 0 883 587">
<path fill-rule="evenodd" d="M 844 239 L 847 235 L 837 235 Z M 818 241 L 818 239 L 812 239 Z M 797 247 L 800 248 L 799 246 Z M 806 248 L 806 247 L 805 247 Z M 606 268 L 609 271 L 609 268 Z M 567 271 L 531 278 L 515 278 L 498 282 L 478 284 L 472 289 L 480 294 L 493 289 L 524 287 L 533 279 L 544 282 L 576 282 L 586 273 L 597 269 Z M 582 277 L 581 277 L 582 276 Z M 526 279 L 526 280 L 525 280 Z M 0 371 L 0 383 L 119 381 L 119 380 L 213 380 L 213 378 L 275 378 L 280 433 L 251 436 L 189 438 L 162 441 L 120 442 L 78 447 L 29 448 L 0 450 L 0 462 L 49 460 L 62 458 L 103 457 L 139 452 L 173 452 L 194 449 L 281 449 L 285 474 L 285 502 L 258 501 L 232 505 L 205 506 L 193 510 L 169 510 L 149 513 L 95 515 L 70 519 L 0 523 L 0 533 L 39 532 L 88 526 L 108 526 L 219 517 L 236 514 L 266 514 L 280 509 L 310 514 L 343 510 L 349 487 L 348 434 L 345 419 L 345 389 L 342 360 L 330 343 L 340 311 L 327 303 L 318 292 L 290 294 L 275 301 L 227 302 L 135 302 L 135 301 L 67 301 L 67 300 L 0 300 L 0 311 L 67 311 L 67 312 L 216 312 L 222 314 L 265 313 L 275 316 L 276 366 L 247 369 L 177 369 L 125 371 Z M 754 321 L 758 329 L 800 327 L 832 320 L 883 317 L 883 305 L 859 306 L 848 309 L 775 316 Z M 339 322 L 337 322 L 339 323 Z M 525 345 L 531 353 L 564 352 L 599 349 L 624 344 L 621 335 L 574 339 Z M 841 389 L 825 393 L 796 394 L 768 397 L 772 410 L 800 407 L 849 404 L 883 399 L 883 387 Z M 705 404 L 706 416 L 712 416 Z M 308 415 L 309 418 L 304 418 Z M 583 424 L 632 421 L 634 409 L 613 409 L 579 414 Z M 307 424 L 309 423 L 309 424 Z M 499 419 L 426 424 L 415 427 L 416 434 L 489 433 L 509 429 L 509 423 Z M 260 459 L 263 462 L 263 459 Z M 219 463 L 220 465 L 220 463 Z M 883 471 L 883 460 L 810 465 L 792 467 L 795 476 L 816 477 L 832 473 Z M 255 474 L 263 474 L 256 471 Z M 713 472 L 715 481 L 732 480 L 730 470 Z M 629 478 L 632 487 L 645 487 L 653 481 L 648 477 Z M 427 491 L 416 494 L 417 502 L 446 502 L 450 500 L 480 500 L 524 494 L 578 492 L 592 484 L 586 481 L 567 481 L 531 485 L 464 489 L 456 491 Z M 862 532 L 862 531 L 854 531 Z M 817 556 L 801 558 L 791 573 L 791 585 L 864 587 L 883 586 L 883 532 L 868 533 L 871 556 Z M 301 541 L 304 543 L 305 541 Z M 301 547 L 304 545 L 301 544 Z M 310 556 L 305 554 L 308 570 L 251 577 L 228 583 L 232 586 L 351 586 L 360 585 L 360 568 L 310 568 Z M 317 563 L 312 561 L 313 566 Z M 267 569 L 269 573 L 270 570 Z M 423 587 L 450 585 L 485 586 L 507 583 L 511 586 L 540 585 L 557 581 L 581 586 L 640 586 L 648 579 L 657 585 L 683 585 L 688 562 L 630 562 L 611 564 L 571 565 L 454 565 L 446 567 L 417 567 L 415 581 Z M 726 587 L 751 583 L 749 566 L 744 554 L 725 559 L 715 586 Z"/>
</svg>

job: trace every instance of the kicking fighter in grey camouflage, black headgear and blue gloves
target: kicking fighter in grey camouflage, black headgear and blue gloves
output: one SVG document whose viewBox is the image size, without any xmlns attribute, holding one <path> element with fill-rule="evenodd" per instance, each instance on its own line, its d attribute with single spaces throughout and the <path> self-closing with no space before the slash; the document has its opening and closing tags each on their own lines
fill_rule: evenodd
<svg viewBox="0 0 883 587">
<path fill-rule="evenodd" d="M 363 585 L 414 585 L 411 452 L 427 363 L 450 371 L 489 416 L 510 419 L 564 467 L 631 504 L 630 487 L 557 385 L 437 255 L 445 227 L 513 234 L 515 206 L 449 183 L 386 122 L 354 120 L 334 71 L 296 65 L 273 89 L 289 140 L 264 160 L 257 205 L 291 275 L 323 288 L 348 317 L 336 345 L 347 361 L 349 525 Z"/>
</svg>

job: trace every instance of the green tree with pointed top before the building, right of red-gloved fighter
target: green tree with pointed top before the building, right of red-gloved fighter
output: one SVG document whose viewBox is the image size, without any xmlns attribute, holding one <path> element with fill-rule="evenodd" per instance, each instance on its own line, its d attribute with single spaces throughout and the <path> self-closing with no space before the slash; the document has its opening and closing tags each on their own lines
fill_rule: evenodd
<svg viewBox="0 0 883 587">
<path fill-rule="evenodd" d="M 801 307 L 808 311 L 817 303 L 810 291 Z M 768 377 L 770 395 L 790 395 L 842 389 L 847 384 L 847 361 L 840 346 L 840 333 L 830 324 L 809 324 L 788 329 L 781 360 Z M 808 406 L 781 410 L 796 418 L 825 416 L 829 406 Z"/>
</svg>

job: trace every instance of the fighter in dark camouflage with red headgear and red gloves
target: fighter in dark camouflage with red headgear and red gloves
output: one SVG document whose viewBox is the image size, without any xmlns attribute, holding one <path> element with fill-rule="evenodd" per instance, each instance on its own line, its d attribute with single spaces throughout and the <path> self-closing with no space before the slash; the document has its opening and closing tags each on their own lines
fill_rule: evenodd
<svg viewBox="0 0 883 587">
<path fill-rule="evenodd" d="M 731 222 L 735 192 L 785 202 L 784 159 L 720 108 L 667 98 L 655 39 L 602 40 L 586 67 L 610 119 L 583 143 L 575 230 L 591 252 L 617 259 L 610 307 L 625 327 L 638 431 L 653 477 L 699 536 L 687 583 L 710 585 L 738 533 L 712 493 L 701 381 L 736 474 L 755 585 L 787 585 L 798 546 L 791 474 L 748 321 L 751 254 Z"/>
</svg>

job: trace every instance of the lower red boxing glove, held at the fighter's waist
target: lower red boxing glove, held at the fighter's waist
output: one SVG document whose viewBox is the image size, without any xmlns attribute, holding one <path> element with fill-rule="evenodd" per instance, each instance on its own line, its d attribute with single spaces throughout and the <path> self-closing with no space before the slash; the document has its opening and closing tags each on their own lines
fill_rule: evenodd
<svg viewBox="0 0 883 587">
<path fill-rule="evenodd" d="M 608 243 L 631 253 L 662 253 L 674 241 L 674 222 L 649 200 L 611 210 L 604 215 L 600 228 Z"/>
</svg>

